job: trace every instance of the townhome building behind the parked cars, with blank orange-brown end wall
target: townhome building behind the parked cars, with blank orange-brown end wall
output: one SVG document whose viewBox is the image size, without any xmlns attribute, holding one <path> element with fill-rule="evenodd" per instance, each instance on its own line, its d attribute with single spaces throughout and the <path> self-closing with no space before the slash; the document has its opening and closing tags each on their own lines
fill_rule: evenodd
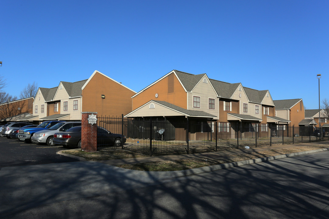
<svg viewBox="0 0 329 219">
<path fill-rule="evenodd" d="M 39 88 L 33 102 L 33 115 L 22 120 L 81 120 L 81 112 L 121 116 L 131 111 L 135 91 L 94 71 L 89 79 L 65 82 L 54 88 Z"/>
</svg>

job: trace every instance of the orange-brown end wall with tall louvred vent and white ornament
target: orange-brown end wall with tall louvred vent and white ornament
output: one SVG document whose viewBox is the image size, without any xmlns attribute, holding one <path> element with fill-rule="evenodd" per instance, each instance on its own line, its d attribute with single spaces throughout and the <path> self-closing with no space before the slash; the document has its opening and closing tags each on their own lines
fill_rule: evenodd
<svg viewBox="0 0 329 219">
<path fill-rule="evenodd" d="M 155 94 L 158 94 L 158 98 Z M 164 77 L 133 98 L 133 110 L 152 99 L 166 101 L 187 109 L 187 93 L 176 76 L 174 77 L 174 93 L 168 94 L 168 77 Z"/>
</svg>

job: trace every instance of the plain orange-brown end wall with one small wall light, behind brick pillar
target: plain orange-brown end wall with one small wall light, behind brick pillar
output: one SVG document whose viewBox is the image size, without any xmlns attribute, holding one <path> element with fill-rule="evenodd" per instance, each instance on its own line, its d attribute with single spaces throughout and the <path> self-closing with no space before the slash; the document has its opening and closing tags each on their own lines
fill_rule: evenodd
<svg viewBox="0 0 329 219">
<path fill-rule="evenodd" d="M 101 95 L 105 95 L 105 99 Z M 98 116 L 121 116 L 132 111 L 135 92 L 98 72 L 82 90 L 82 112 L 97 112 Z"/>
</svg>

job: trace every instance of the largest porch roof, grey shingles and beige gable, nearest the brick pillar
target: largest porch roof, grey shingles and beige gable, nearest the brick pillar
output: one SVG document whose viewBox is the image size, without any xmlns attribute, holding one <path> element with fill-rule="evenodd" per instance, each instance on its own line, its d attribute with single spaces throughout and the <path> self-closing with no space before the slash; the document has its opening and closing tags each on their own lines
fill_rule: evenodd
<svg viewBox="0 0 329 219">
<path fill-rule="evenodd" d="M 124 117 L 150 117 L 150 116 L 186 116 L 215 118 L 216 116 L 204 111 L 187 110 L 166 101 L 150 100 Z"/>
</svg>

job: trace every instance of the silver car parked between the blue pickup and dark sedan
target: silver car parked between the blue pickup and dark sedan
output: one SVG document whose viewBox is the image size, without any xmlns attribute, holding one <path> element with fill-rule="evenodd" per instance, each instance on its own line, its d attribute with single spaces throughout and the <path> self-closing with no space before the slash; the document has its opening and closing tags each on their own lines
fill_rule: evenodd
<svg viewBox="0 0 329 219">
<path fill-rule="evenodd" d="M 46 130 L 35 132 L 31 137 L 31 142 L 34 144 L 46 143 L 49 146 L 54 146 L 54 134 L 57 132 L 65 132 L 69 128 L 80 126 L 81 121 L 59 122 Z"/>
</svg>

